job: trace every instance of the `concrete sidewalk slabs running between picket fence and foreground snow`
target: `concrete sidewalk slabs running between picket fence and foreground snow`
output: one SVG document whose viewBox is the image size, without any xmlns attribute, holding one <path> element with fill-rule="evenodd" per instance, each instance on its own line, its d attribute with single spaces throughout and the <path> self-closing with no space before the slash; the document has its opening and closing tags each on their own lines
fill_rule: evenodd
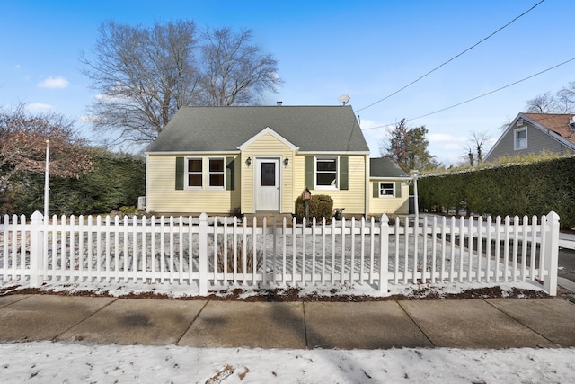
<svg viewBox="0 0 575 384">
<path fill-rule="evenodd" d="M 361 303 L 0 297 L 0 342 L 194 347 L 515 348 L 575 346 L 564 299 Z"/>
</svg>

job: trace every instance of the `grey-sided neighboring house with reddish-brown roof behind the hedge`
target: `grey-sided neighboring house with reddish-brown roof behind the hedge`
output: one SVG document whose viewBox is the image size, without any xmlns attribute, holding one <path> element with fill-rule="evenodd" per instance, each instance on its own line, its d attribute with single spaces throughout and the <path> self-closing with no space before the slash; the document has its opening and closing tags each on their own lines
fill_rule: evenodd
<svg viewBox="0 0 575 384">
<path fill-rule="evenodd" d="M 483 161 L 541 152 L 575 154 L 575 117 L 572 114 L 519 113 Z"/>
</svg>

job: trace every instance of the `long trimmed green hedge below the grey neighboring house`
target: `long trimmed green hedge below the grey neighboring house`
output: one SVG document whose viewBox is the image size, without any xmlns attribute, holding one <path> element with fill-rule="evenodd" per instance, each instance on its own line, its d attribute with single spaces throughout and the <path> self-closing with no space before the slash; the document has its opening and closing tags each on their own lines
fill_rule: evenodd
<svg viewBox="0 0 575 384">
<path fill-rule="evenodd" d="M 418 183 L 422 210 L 464 209 L 491 216 L 540 216 L 553 210 L 562 228 L 575 227 L 575 156 L 423 175 Z"/>
</svg>

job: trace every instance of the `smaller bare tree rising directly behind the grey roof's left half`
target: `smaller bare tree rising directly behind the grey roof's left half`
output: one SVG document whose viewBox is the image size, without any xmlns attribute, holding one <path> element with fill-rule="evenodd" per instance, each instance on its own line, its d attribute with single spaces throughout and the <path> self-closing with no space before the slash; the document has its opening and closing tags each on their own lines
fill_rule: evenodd
<svg viewBox="0 0 575 384">
<path fill-rule="evenodd" d="M 205 33 L 201 103 L 228 106 L 258 103 L 264 91 L 277 92 L 278 62 L 251 45 L 252 31 L 220 28 Z"/>
</svg>

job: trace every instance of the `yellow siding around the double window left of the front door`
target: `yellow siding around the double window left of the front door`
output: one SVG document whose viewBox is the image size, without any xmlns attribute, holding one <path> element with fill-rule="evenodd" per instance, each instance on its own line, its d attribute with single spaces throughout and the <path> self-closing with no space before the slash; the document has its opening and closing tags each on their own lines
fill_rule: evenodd
<svg viewBox="0 0 575 384">
<path fill-rule="evenodd" d="M 226 157 L 226 154 L 209 156 L 184 156 L 184 157 Z M 232 156 L 232 155 L 227 155 Z M 236 155 L 233 155 L 236 156 Z M 175 189 L 175 165 L 176 157 L 172 155 L 149 155 L 148 156 L 148 181 L 146 192 L 146 210 L 157 213 L 227 213 L 229 210 L 240 206 L 240 157 L 235 160 L 235 189 L 225 190 L 181 190 Z M 204 161 L 204 171 L 208 162 Z M 207 183 L 207 175 L 204 174 L 204 185 Z"/>
</svg>

